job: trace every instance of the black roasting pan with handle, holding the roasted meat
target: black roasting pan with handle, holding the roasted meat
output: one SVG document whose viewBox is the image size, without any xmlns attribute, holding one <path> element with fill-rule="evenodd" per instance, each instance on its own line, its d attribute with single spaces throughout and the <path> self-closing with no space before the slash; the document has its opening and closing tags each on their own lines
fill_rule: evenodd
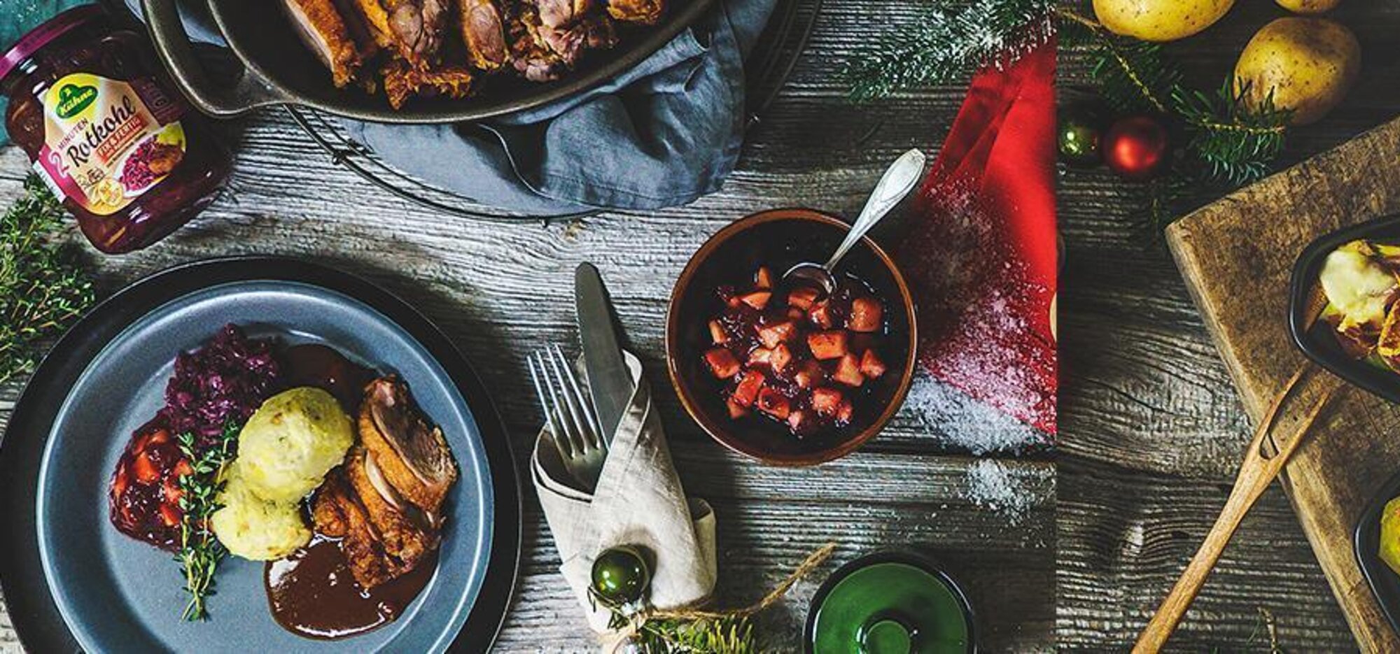
<svg viewBox="0 0 1400 654">
<path fill-rule="evenodd" d="M 671 0 L 655 25 L 619 25 L 619 42 L 612 50 L 589 53 L 563 80 L 528 82 L 493 75 L 472 98 L 413 98 L 398 110 L 382 94 L 336 88 L 330 71 L 302 45 L 279 0 L 195 1 L 209 6 L 214 25 L 242 64 L 232 81 L 214 80 L 200 66 L 179 21 L 176 0 L 141 0 L 141 6 L 151 41 L 175 84 L 210 116 L 232 117 L 260 106 L 301 105 L 378 123 L 456 123 L 519 112 L 588 91 L 661 49 L 694 24 L 714 0 Z"/>
</svg>

